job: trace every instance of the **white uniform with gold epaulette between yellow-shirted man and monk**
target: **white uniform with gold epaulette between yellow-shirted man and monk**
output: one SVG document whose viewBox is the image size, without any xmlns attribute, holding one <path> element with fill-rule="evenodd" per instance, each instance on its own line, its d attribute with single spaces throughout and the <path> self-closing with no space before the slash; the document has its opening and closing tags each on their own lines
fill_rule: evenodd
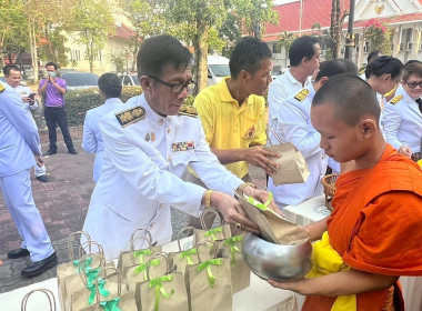
<svg viewBox="0 0 422 311">
<path fill-rule="evenodd" d="M 320 148 L 320 133 L 311 124 L 311 104 L 315 94 L 312 83 L 290 96 L 280 106 L 277 121 L 281 131 L 277 132 L 281 142 L 291 142 L 302 153 L 310 170 L 304 183 L 274 185 L 268 181 L 268 191 L 274 201 L 284 205 L 297 205 L 309 198 L 322 194 L 321 179 L 324 177 L 329 157 Z"/>
</svg>

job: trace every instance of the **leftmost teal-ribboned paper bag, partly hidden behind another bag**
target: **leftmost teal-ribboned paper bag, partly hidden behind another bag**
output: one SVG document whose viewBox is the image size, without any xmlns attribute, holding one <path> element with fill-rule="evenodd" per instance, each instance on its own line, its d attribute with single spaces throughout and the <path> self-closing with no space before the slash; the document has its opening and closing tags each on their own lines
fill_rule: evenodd
<svg viewBox="0 0 422 311">
<path fill-rule="evenodd" d="M 64 262 L 62 264 L 59 264 L 57 268 L 57 282 L 58 282 L 58 297 L 59 297 L 59 303 L 61 310 L 64 310 L 64 300 L 63 300 L 63 294 L 64 294 L 64 285 L 63 285 L 63 279 L 68 275 L 71 274 L 77 274 L 79 273 L 79 258 L 74 257 L 73 252 L 73 241 L 76 240 L 77 235 L 84 235 L 87 241 L 91 241 L 91 237 L 84 232 L 84 231 L 77 231 L 73 232 L 72 234 L 69 235 L 68 238 L 68 251 L 69 251 L 69 258 L 70 262 Z M 91 245 L 90 245 L 91 247 Z M 102 248 L 99 248 L 99 251 L 102 252 L 102 257 L 104 255 Z M 91 258 L 92 260 L 92 258 Z"/>
</svg>

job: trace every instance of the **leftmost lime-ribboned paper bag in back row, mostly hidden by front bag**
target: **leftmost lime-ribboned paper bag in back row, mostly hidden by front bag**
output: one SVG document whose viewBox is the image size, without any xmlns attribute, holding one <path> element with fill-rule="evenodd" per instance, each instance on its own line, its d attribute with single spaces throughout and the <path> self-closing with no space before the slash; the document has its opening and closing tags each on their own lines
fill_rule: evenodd
<svg viewBox="0 0 422 311">
<path fill-rule="evenodd" d="M 141 235 L 144 233 L 144 235 Z M 135 242 L 140 241 L 140 237 L 143 237 L 142 240 L 148 241 L 149 248 L 147 249 L 137 249 Z M 137 229 L 133 231 L 132 235 L 130 237 L 130 250 L 129 251 L 122 251 L 119 254 L 118 260 L 118 270 L 122 273 L 123 280 L 125 280 L 125 275 L 128 272 L 128 269 L 133 267 L 135 264 L 133 262 L 133 257 L 137 260 L 138 264 L 147 263 L 147 261 L 155 253 L 161 252 L 161 247 L 153 247 L 152 245 L 152 235 L 150 231 L 147 229 Z"/>
</svg>

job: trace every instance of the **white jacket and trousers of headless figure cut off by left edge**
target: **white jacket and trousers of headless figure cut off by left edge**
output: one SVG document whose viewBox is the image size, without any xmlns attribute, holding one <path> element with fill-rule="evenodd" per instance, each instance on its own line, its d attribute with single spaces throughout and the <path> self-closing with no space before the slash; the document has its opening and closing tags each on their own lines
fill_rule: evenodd
<svg viewBox="0 0 422 311">
<path fill-rule="evenodd" d="M 29 250 L 32 261 L 39 261 L 51 255 L 53 248 L 32 198 L 33 154 L 41 156 L 36 123 L 21 98 L 6 89 L 0 92 L 0 188 L 21 247 Z"/>
</svg>

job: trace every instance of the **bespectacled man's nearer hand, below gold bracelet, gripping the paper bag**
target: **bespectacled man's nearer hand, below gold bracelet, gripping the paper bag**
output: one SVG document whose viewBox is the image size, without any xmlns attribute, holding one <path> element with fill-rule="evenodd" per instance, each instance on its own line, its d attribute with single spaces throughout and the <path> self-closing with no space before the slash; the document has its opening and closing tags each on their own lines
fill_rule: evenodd
<svg viewBox="0 0 422 311">
<path fill-rule="evenodd" d="M 240 205 L 239 201 L 229 194 L 213 191 L 211 194 L 211 207 L 221 212 L 227 223 L 241 225 L 245 231 L 258 233 L 258 225 L 247 218 L 247 213 Z"/>
</svg>

